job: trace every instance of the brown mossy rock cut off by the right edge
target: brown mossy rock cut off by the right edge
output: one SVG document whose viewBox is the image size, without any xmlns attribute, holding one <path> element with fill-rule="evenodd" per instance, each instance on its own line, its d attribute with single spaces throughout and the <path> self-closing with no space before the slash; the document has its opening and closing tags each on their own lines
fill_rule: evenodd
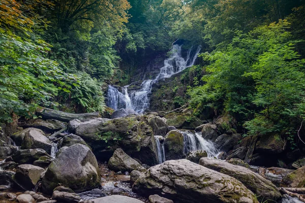
<svg viewBox="0 0 305 203">
<path fill-rule="evenodd" d="M 288 187 L 305 187 L 305 166 L 288 174 L 283 179 L 283 183 Z"/>
</svg>

